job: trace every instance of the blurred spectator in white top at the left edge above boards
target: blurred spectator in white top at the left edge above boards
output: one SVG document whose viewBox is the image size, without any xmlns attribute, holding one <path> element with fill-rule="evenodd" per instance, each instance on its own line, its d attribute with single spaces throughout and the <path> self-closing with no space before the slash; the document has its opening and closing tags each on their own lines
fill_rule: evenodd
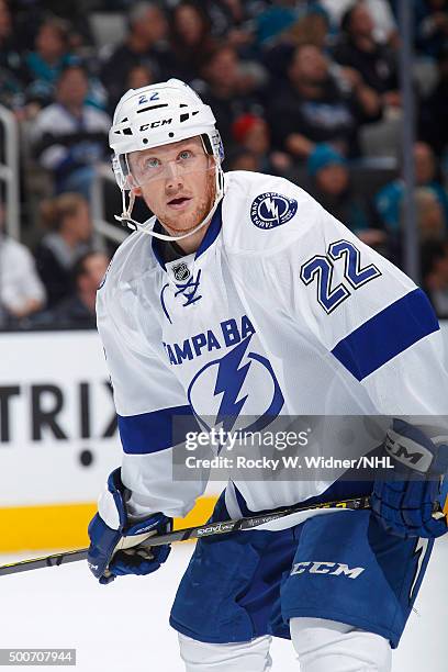
<svg viewBox="0 0 448 672">
<path fill-rule="evenodd" d="M 27 317 L 43 307 L 45 289 L 29 249 L 7 236 L 0 202 L 0 326 Z"/>
</svg>

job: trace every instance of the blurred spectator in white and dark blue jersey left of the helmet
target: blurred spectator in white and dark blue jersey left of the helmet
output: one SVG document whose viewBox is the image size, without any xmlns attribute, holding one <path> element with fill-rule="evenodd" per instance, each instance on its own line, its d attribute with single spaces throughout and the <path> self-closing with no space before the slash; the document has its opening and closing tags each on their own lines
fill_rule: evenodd
<svg viewBox="0 0 448 672">
<path fill-rule="evenodd" d="M 63 70 L 56 102 L 42 110 L 32 130 L 38 163 L 52 171 L 57 192 L 89 198 L 94 165 L 108 154 L 109 116 L 87 105 L 88 79 L 80 66 Z"/>
</svg>

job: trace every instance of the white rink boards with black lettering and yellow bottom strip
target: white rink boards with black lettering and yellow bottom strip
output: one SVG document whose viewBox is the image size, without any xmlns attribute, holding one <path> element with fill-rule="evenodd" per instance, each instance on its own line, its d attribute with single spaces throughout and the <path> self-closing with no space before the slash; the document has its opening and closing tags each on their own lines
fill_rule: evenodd
<svg viewBox="0 0 448 672">
<path fill-rule="evenodd" d="M 3 333 L 0 351 L 0 552 L 82 547 L 121 460 L 99 337 Z M 220 491 L 212 483 L 177 526 L 205 520 Z"/>
</svg>

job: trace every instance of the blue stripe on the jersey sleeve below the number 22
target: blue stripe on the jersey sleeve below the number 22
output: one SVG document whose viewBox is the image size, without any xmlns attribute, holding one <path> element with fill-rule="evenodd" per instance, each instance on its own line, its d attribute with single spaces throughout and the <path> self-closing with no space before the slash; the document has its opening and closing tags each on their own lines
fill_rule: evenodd
<svg viewBox="0 0 448 672">
<path fill-rule="evenodd" d="M 416 289 L 343 338 L 333 355 L 358 380 L 439 328 L 433 307 Z"/>
</svg>

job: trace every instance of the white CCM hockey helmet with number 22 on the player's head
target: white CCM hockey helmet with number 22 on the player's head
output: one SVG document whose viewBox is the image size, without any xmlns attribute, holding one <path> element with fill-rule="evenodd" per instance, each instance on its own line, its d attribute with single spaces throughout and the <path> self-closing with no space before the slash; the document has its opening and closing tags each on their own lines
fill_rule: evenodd
<svg viewBox="0 0 448 672">
<path fill-rule="evenodd" d="M 183 81 L 131 89 L 120 100 L 109 133 L 116 182 L 122 191 L 131 188 L 127 155 L 200 136 L 206 154 L 215 158 L 217 172 L 224 149 L 211 108 Z"/>
</svg>

